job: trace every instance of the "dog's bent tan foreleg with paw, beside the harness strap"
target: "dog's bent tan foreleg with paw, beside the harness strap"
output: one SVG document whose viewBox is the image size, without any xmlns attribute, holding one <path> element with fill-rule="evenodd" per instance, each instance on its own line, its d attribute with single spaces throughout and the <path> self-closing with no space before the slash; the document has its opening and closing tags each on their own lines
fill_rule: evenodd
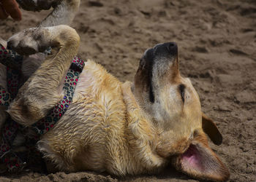
<svg viewBox="0 0 256 182">
<path fill-rule="evenodd" d="M 53 52 L 20 88 L 8 110 L 12 119 L 33 124 L 59 102 L 61 80 L 78 52 L 79 42 L 78 33 L 67 25 L 29 28 L 10 38 L 8 46 L 20 54 L 43 52 L 47 47 L 52 47 Z"/>
</svg>

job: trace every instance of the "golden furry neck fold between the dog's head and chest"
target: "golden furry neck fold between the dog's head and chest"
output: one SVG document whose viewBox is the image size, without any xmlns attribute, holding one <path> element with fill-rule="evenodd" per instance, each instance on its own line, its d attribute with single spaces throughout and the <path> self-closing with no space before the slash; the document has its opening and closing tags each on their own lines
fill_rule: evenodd
<svg viewBox="0 0 256 182">
<path fill-rule="evenodd" d="M 129 146 L 132 146 L 133 150 L 136 151 L 134 152 L 135 159 L 140 160 L 148 170 L 156 169 L 156 167 L 161 168 L 166 161 L 155 152 L 158 143 L 157 130 L 140 109 L 131 86 L 131 82 L 125 82 L 122 85 L 124 103 L 127 107 Z"/>
</svg>

